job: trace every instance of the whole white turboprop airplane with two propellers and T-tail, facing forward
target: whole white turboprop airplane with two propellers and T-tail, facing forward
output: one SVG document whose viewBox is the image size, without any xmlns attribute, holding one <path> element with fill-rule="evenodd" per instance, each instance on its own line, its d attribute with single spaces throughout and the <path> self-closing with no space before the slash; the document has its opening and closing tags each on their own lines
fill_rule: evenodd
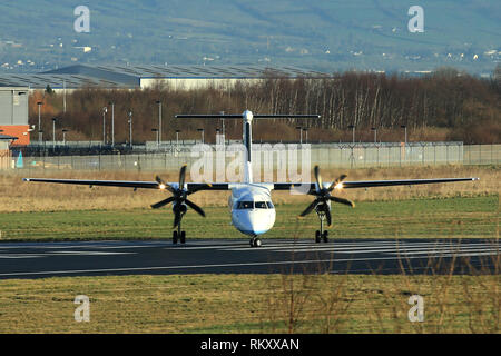
<svg viewBox="0 0 501 356">
<path fill-rule="evenodd" d="M 275 207 L 272 202 L 272 190 L 291 190 L 299 185 L 306 185 L 306 194 L 315 199 L 299 215 L 304 217 L 315 210 L 320 219 L 320 229 L 315 231 L 316 243 L 327 243 L 328 231 L 324 228 L 332 225 L 332 202 L 338 202 L 354 207 L 354 202 L 333 196 L 334 190 L 370 187 L 389 186 L 412 186 L 426 184 L 441 184 L 454 181 L 478 180 L 479 178 L 435 178 L 435 179 L 403 179 L 403 180 L 357 180 L 346 181 L 346 175 L 340 176 L 332 182 L 324 184 L 320 174 L 318 166 L 314 168 L 314 182 L 253 182 L 252 176 L 252 122 L 254 119 L 311 119 L 320 118 L 318 115 L 253 115 L 252 111 L 244 111 L 240 115 L 177 115 L 177 119 L 240 119 L 243 120 L 243 142 L 246 148 L 244 155 L 244 181 L 243 182 L 186 182 L 186 165 L 180 168 L 179 181 L 166 182 L 156 176 L 155 181 L 130 181 L 130 180 L 81 180 L 81 179 L 47 179 L 47 178 L 23 178 L 24 181 L 70 184 L 85 186 L 107 186 L 122 188 L 145 188 L 168 191 L 170 197 L 151 205 L 151 208 L 158 209 L 168 204 L 173 205 L 174 231 L 173 244 L 186 243 L 186 233 L 181 229 L 183 217 L 188 207 L 200 216 L 205 217 L 204 210 L 195 202 L 188 199 L 188 196 L 200 190 L 230 190 L 229 208 L 232 222 L 237 230 L 250 236 L 249 244 L 253 247 L 259 247 L 262 241 L 259 236 L 268 231 L 276 217 Z"/>
</svg>

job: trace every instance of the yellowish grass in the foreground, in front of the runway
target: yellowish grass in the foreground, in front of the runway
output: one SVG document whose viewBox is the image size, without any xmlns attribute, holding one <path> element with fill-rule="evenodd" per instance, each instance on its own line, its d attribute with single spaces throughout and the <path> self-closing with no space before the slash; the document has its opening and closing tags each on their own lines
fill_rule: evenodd
<svg viewBox="0 0 501 356">
<path fill-rule="evenodd" d="M 0 280 L 0 333 L 499 333 L 498 276 L 191 275 Z M 90 322 L 75 320 L 77 295 Z M 424 299 L 411 323 L 409 298 Z"/>
</svg>

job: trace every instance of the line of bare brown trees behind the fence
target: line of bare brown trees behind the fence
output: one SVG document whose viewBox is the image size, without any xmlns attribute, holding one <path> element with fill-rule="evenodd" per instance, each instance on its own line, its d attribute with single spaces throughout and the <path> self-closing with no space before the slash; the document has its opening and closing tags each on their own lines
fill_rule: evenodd
<svg viewBox="0 0 501 356">
<path fill-rule="evenodd" d="M 52 118 L 57 129 L 68 129 L 69 140 L 101 140 L 102 112 L 110 141 L 111 106 L 115 107 L 115 141 L 129 137 L 128 111 L 132 112 L 132 140 L 153 141 L 158 129 L 157 101 L 161 102 L 164 140 L 175 139 L 176 130 L 186 139 L 215 140 L 220 120 L 176 120 L 177 113 L 318 113 L 320 120 L 263 120 L 254 125 L 254 139 L 293 141 L 297 126 L 308 128 L 311 141 L 351 141 L 351 126 L 356 140 L 402 139 L 402 126 L 410 140 L 460 140 L 465 144 L 501 141 L 501 86 L 499 68 L 493 78 L 481 79 L 443 68 L 422 77 L 373 72 L 343 72 L 322 78 L 284 78 L 267 73 L 262 80 L 239 80 L 224 86 L 179 90 L 158 81 L 147 89 L 78 89 L 62 92 L 36 91 L 30 96 L 30 123 L 38 123 L 37 101 L 42 101 L 42 130 L 51 139 Z M 372 129 L 372 130 L 371 130 Z M 242 122 L 225 120 L 227 138 L 242 136 Z M 36 132 L 36 131 L 35 131 Z M 36 139 L 37 135 L 33 135 Z M 58 137 L 57 137 L 58 139 Z"/>
</svg>

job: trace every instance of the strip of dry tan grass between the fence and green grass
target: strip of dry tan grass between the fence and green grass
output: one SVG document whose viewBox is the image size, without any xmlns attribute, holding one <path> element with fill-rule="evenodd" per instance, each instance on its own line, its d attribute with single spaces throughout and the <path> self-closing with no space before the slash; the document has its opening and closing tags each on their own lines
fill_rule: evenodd
<svg viewBox="0 0 501 356">
<path fill-rule="evenodd" d="M 340 174 L 348 175 L 348 180 L 372 179 L 409 179 L 409 178 L 440 178 L 440 177 L 480 177 L 475 182 L 458 182 L 443 185 L 351 189 L 340 192 L 354 201 L 396 200 L 415 197 L 451 197 L 478 196 L 499 194 L 501 170 L 499 167 L 402 167 L 402 168 L 370 168 L 323 170 L 324 180 L 334 179 Z M 177 174 L 159 172 L 167 181 L 176 181 Z M 148 207 L 161 199 L 163 192 L 149 189 L 132 189 L 82 186 L 28 184 L 21 178 L 26 172 L 2 172 L 0 175 L 0 211 L 60 211 L 89 209 L 134 209 Z M 153 180 L 153 174 L 124 171 L 50 171 L 37 172 L 37 177 L 81 178 L 81 179 L 130 179 Z M 313 177 L 312 177 L 313 178 Z M 188 179 L 189 181 L 189 179 Z M 202 206 L 225 206 L 228 192 L 202 191 L 193 196 L 193 200 Z M 310 201 L 310 197 L 292 196 L 287 191 L 274 192 L 276 204 L 294 204 Z"/>
</svg>

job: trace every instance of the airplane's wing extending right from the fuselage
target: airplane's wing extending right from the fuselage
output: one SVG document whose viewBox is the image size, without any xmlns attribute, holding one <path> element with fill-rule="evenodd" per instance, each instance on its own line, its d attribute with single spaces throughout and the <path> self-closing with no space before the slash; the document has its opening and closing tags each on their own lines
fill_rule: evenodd
<svg viewBox="0 0 501 356">
<path fill-rule="evenodd" d="M 356 181 L 343 181 L 340 185 L 340 189 L 350 188 L 372 188 L 372 187 L 392 187 L 392 186 L 414 186 L 414 185 L 430 185 L 430 184 L 442 184 L 442 182 L 455 182 L 455 181 L 471 181 L 480 180 L 480 178 L 434 178 L 434 179 L 396 179 L 396 180 L 356 180 Z M 275 190 L 288 190 L 294 187 L 301 187 L 301 182 L 275 182 Z M 305 182 L 304 185 L 310 185 L 310 191 L 316 190 L 315 182 Z M 324 184 L 325 188 L 328 188 L 331 182 Z"/>
</svg>

